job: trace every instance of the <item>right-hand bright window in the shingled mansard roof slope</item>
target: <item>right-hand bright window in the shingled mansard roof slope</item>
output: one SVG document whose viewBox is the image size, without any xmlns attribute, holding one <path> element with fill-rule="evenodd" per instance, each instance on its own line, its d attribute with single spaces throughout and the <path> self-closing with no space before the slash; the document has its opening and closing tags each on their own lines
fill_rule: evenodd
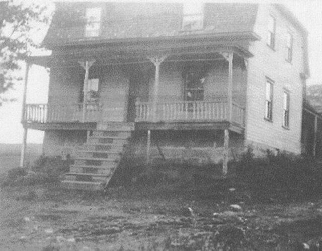
<svg viewBox="0 0 322 251">
<path fill-rule="evenodd" d="M 203 9 L 200 2 L 187 2 L 183 5 L 182 29 L 184 31 L 203 29 Z"/>
</svg>

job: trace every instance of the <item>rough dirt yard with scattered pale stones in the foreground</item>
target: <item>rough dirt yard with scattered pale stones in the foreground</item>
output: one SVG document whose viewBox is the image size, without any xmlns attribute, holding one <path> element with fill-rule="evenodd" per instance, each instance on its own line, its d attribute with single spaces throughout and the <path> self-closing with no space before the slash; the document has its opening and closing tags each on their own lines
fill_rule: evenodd
<svg viewBox="0 0 322 251">
<path fill-rule="evenodd" d="M 215 189 L 2 189 L 0 250 L 320 250 L 322 200 L 238 208 Z"/>
</svg>

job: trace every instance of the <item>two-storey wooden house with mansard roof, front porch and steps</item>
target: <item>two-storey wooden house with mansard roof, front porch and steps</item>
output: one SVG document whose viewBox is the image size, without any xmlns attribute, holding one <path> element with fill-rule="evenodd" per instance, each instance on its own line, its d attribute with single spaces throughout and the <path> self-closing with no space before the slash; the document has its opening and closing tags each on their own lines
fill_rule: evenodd
<svg viewBox="0 0 322 251">
<path fill-rule="evenodd" d="M 69 187 L 109 180 L 136 156 L 223 163 L 247 146 L 301 153 L 307 31 L 284 6 L 57 3 L 44 45 L 47 104 L 22 123 L 69 155 Z"/>
</svg>

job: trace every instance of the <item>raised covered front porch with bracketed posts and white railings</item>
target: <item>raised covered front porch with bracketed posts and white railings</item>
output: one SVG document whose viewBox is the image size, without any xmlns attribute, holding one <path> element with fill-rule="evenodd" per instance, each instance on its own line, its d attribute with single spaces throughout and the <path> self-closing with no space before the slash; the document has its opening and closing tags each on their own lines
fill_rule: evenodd
<svg viewBox="0 0 322 251">
<path fill-rule="evenodd" d="M 135 130 L 146 132 L 147 156 L 154 130 L 223 130 L 227 172 L 229 131 L 243 134 L 245 126 L 247 58 L 252 56 L 247 50 L 212 45 L 91 55 L 30 59 L 50 67 L 54 80 L 47 104 L 24 105 L 26 129 L 89 131 L 98 124 L 134 122 Z M 97 79 L 94 99 L 92 79 Z"/>
</svg>

